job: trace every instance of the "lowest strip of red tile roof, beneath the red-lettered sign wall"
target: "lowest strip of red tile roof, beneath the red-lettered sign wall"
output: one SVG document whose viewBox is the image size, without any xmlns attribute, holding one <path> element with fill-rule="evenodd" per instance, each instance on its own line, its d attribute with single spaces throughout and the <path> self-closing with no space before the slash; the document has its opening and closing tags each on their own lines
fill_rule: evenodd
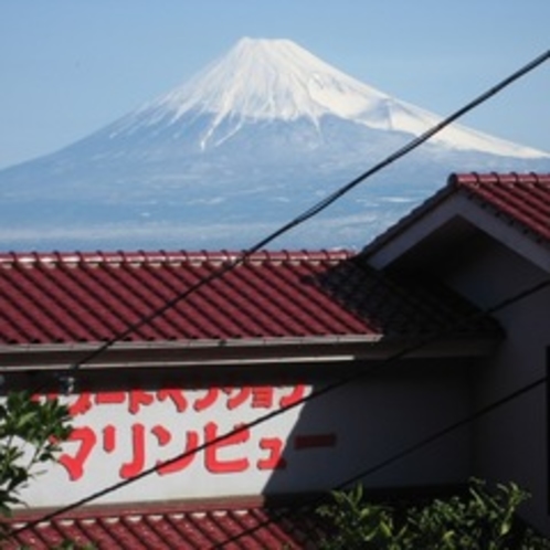
<svg viewBox="0 0 550 550">
<path fill-rule="evenodd" d="M 12 535 L 2 549 L 47 550 L 72 540 L 102 550 L 265 550 L 314 549 L 319 519 L 307 508 L 260 505 L 147 510 L 81 510 L 50 521 L 27 514 L 10 521 Z M 25 528 L 28 522 L 31 527 Z"/>
</svg>

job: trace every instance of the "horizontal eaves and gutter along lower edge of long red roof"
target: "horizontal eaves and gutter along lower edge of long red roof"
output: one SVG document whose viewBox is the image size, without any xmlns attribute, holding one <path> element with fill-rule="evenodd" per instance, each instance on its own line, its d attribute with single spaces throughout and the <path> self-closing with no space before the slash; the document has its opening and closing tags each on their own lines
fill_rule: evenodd
<svg viewBox="0 0 550 550">
<path fill-rule="evenodd" d="M 117 368 L 184 368 L 387 360 L 411 349 L 410 357 L 485 356 L 499 334 L 437 337 L 366 335 L 193 342 L 118 343 L 93 358 L 91 345 L 0 347 L 0 372 Z M 417 342 L 425 342 L 421 346 Z"/>
</svg>

